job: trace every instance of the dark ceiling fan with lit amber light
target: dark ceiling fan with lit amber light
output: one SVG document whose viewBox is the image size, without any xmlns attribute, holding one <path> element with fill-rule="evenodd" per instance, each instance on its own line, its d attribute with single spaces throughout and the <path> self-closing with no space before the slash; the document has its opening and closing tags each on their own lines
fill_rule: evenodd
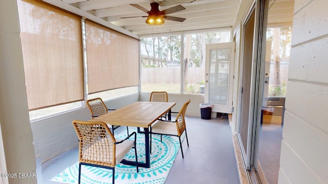
<svg viewBox="0 0 328 184">
<path fill-rule="evenodd" d="M 149 25 L 161 25 L 164 23 L 164 19 L 179 21 L 179 22 L 183 22 L 186 20 L 186 18 L 174 17 L 174 16 L 167 15 L 167 14 L 174 13 L 177 11 L 186 10 L 186 8 L 181 5 L 178 5 L 178 6 L 175 6 L 172 8 L 168 8 L 168 9 L 165 9 L 162 11 L 159 11 L 159 9 L 158 9 L 159 3 L 156 3 L 156 2 L 150 4 L 150 6 L 151 6 L 150 11 L 147 10 L 146 8 L 136 5 L 136 4 L 130 4 L 130 5 L 141 11 L 148 13 L 148 16 L 136 16 L 136 17 L 147 17 L 146 23 Z M 134 18 L 134 17 L 121 17 L 121 18 Z"/>
</svg>

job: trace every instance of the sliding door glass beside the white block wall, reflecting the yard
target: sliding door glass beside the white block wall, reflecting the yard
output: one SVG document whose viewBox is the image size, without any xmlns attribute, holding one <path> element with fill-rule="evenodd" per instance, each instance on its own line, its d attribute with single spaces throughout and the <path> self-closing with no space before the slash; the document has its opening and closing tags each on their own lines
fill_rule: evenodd
<svg viewBox="0 0 328 184">
<path fill-rule="evenodd" d="M 268 183 L 278 183 L 291 41 L 291 27 L 267 29 L 264 90 L 257 154 L 260 165 L 258 172 L 263 173 Z"/>
</svg>

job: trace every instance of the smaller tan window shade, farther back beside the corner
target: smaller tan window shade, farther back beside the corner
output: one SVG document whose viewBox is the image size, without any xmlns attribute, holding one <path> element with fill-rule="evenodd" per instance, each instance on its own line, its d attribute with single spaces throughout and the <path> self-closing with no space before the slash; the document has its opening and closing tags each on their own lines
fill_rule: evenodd
<svg viewBox="0 0 328 184">
<path fill-rule="evenodd" d="M 89 94 L 139 85 L 139 40 L 85 23 Z"/>
</svg>

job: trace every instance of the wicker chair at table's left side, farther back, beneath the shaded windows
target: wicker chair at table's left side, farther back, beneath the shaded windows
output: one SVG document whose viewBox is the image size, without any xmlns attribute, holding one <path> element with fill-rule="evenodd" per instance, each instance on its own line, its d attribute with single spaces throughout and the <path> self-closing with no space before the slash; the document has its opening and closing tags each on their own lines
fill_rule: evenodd
<svg viewBox="0 0 328 184">
<path fill-rule="evenodd" d="M 104 101 L 101 98 L 94 98 L 94 99 L 87 100 L 87 105 L 91 112 L 92 119 L 107 113 L 108 110 L 115 110 L 115 109 L 108 109 L 107 106 L 105 105 Z M 118 127 L 119 126 L 114 127 L 112 125 L 113 134 L 114 134 L 114 130 Z M 127 127 L 127 131 L 128 131 L 128 135 L 129 135 L 129 127 Z"/>
</svg>

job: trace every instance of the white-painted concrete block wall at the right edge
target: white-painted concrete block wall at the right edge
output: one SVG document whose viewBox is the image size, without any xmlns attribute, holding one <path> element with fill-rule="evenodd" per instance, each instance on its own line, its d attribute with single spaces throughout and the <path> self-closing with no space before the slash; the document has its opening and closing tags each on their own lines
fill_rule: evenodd
<svg viewBox="0 0 328 184">
<path fill-rule="evenodd" d="M 279 183 L 328 183 L 327 9 L 295 0 Z"/>
</svg>

